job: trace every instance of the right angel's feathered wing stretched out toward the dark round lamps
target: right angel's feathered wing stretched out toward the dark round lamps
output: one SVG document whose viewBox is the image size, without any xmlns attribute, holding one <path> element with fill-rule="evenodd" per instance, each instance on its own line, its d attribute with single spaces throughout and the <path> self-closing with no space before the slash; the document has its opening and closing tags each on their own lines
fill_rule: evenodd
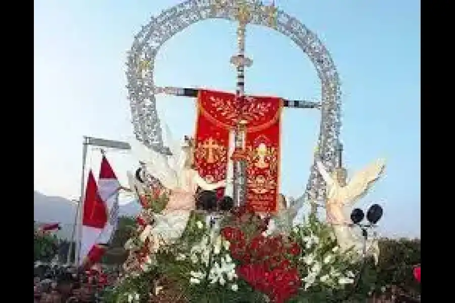
<svg viewBox="0 0 455 303">
<path fill-rule="evenodd" d="M 385 161 L 378 159 L 363 170 L 357 172 L 345 187 L 341 187 L 341 195 L 345 205 L 352 205 L 357 199 L 365 195 L 377 181 L 385 169 Z"/>
</svg>

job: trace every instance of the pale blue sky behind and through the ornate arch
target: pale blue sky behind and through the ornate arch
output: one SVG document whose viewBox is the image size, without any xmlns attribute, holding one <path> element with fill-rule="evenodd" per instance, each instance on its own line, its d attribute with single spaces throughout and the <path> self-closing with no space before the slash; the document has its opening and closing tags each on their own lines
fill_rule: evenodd
<svg viewBox="0 0 455 303">
<path fill-rule="evenodd" d="M 83 135 L 126 140 L 132 132 L 124 75 L 126 51 L 150 16 L 178 0 L 34 1 L 34 188 L 78 196 Z M 278 0 L 315 32 L 342 79 L 345 165 L 349 172 L 378 157 L 387 172 L 359 202 L 384 206 L 385 235 L 420 236 L 420 2 L 416 0 Z M 234 91 L 234 23 L 208 20 L 171 38 L 156 62 L 157 85 Z M 309 59 L 292 41 L 266 28 L 247 30 L 250 94 L 320 99 Z M 192 134 L 194 101 L 158 97 L 175 137 Z M 319 130 L 317 110 L 286 110 L 282 192 L 306 185 Z M 125 182 L 134 159 L 108 151 Z M 98 171 L 100 152 L 89 152 Z"/>
</svg>

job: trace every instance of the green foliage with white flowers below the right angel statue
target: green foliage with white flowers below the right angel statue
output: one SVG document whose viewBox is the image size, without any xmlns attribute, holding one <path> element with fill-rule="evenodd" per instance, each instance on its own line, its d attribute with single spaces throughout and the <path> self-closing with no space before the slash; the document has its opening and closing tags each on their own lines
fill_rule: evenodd
<svg viewBox="0 0 455 303">
<path fill-rule="evenodd" d="M 370 289 L 355 285 L 361 265 L 352 252 L 341 251 L 330 225 L 310 216 L 292 229 L 290 238 L 301 247 L 293 263 L 303 280 L 298 295 L 289 302 L 335 303 L 346 298 L 365 302 Z"/>
</svg>

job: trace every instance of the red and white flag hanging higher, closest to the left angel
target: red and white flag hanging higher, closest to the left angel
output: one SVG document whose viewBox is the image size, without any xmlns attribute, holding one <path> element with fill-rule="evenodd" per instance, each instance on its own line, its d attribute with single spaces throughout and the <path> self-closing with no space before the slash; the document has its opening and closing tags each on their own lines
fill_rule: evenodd
<svg viewBox="0 0 455 303">
<path fill-rule="evenodd" d="M 118 194 L 120 182 L 118 182 L 111 165 L 103 155 L 98 179 L 98 192 L 106 204 L 108 210 L 108 221 L 101 233 L 98 243 L 107 244 L 110 242 L 118 223 Z"/>
</svg>

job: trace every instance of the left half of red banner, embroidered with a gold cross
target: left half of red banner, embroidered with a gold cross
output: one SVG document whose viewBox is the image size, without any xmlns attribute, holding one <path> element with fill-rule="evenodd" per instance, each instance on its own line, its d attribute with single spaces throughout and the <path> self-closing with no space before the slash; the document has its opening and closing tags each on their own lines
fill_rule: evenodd
<svg viewBox="0 0 455 303">
<path fill-rule="evenodd" d="M 208 182 L 226 179 L 228 169 L 229 127 L 222 123 L 224 112 L 217 109 L 214 98 L 233 99 L 233 94 L 199 91 L 194 163 L 199 175 Z M 223 195 L 224 189 L 217 190 L 218 197 Z"/>
</svg>

